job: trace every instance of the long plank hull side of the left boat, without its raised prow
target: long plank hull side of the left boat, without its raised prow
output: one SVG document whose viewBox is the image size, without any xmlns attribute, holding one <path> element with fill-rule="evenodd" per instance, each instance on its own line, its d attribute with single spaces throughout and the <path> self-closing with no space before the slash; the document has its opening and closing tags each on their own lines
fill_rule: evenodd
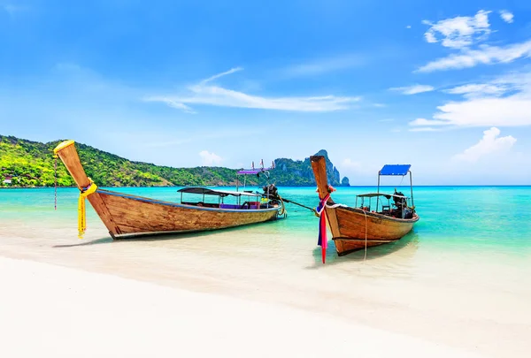
<svg viewBox="0 0 531 358">
<path fill-rule="evenodd" d="M 170 232 L 199 232 L 250 225 L 279 217 L 280 207 L 270 209 L 214 209 L 98 189 L 96 194 L 116 225 L 115 238 Z"/>
</svg>

